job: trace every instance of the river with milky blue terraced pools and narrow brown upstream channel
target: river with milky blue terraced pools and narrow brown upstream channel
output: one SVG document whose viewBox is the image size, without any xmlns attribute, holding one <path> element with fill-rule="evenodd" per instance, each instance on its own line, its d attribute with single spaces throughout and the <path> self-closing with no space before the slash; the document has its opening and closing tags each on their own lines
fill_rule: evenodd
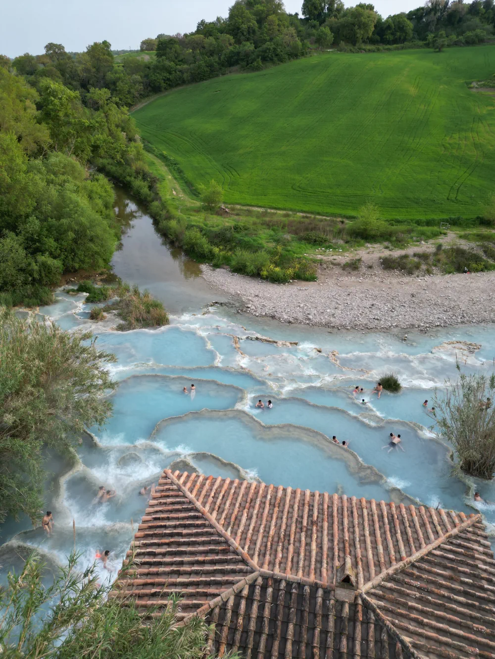
<svg viewBox="0 0 495 659">
<path fill-rule="evenodd" d="M 104 428 L 90 428 L 77 459 L 51 459 L 46 507 L 55 519 L 53 536 L 32 529 L 28 519 L 7 520 L 0 529 L 0 579 L 31 548 L 57 565 L 74 544 L 81 567 L 110 549 L 117 569 L 145 509 L 139 489 L 170 465 L 331 494 L 479 509 L 495 534 L 495 505 L 473 501 L 475 489 L 495 501 L 495 483 L 453 471 L 449 448 L 436 440 L 422 407 L 435 387 L 457 378 L 456 358 L 462 372 L 492 372 L 493 326 L 405 337 L 403 330 L 329 331 L 242 315 L 235 305 L 220 304 L 235 300 L 170 249 L 121 190 L 116 213 L 127 230 L 114 271 L 162 300 L 170 326 L 112 331 L 114 320 L 89 320 L 93 305 L 84 295 L 62 291 L 56 304 L 40 309 L 65 329 L 91 328 L 98 345 L 116 353 L 111 369 L 120 385 L 112 395 L 114 415 Z M 399 374 L 403 389 L 378 400 L 372 388 L 387 371 Z M 192 383 L 194 395 L 184 395 Z M 356 385 L 362 394 L 352 394 Z M 257 409 L 259 399 L 273 408 Z M 403 451 L 389 452 L 390 432 L 401 434 Z M 349 447 L 331 442 L 333 435 Z M 96 507 L 101 485 L 117 496 Z"/>
</svg>

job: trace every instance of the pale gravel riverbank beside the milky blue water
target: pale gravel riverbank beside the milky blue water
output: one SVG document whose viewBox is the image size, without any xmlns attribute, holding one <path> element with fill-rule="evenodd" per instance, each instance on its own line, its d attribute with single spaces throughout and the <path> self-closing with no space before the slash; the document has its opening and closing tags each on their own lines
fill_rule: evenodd
<svg viewBox="0 0 495 659">
<path fill-rule="evenodd" d="M 281 322 L 335 329 L 429 329 L 495 322 L 495 272 L 411 277 L 343 275 L 273 284 L 203 266 L 206 281 L 240 309 Z"/>
</svg>

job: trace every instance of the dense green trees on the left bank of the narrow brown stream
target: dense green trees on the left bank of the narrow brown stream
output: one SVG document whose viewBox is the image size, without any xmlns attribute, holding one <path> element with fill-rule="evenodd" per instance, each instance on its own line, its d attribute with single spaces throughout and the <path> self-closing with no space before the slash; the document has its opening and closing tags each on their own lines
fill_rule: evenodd
<svg viewBox="0 0 495 659">
<path fill-rule="evenodd" d="M 116 178 L 127 176 L 137 192 L 147 189 L 149 177 L 133 119 L 103 86 L 106 47 L 94 45 L 84 59 L 82 92 L 71 84 L 73 60 L 63 47 L 49 44 L 46 51 L 53 67 L 36 62 L 20 75 L 5 59 L 0 66 L 0 304 L 6 306 L 49 302 L 49 287 L 62 273 L 108 266 L 120 231 L 113 187 L 100 172 L 119 168 Z"/>
</svg>

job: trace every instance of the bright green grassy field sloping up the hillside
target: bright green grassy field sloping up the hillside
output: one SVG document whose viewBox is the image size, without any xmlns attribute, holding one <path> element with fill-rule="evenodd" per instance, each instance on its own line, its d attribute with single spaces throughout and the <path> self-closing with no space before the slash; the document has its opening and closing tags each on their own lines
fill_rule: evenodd
<svg viewBox="0 0 495 659">
<path fill-rule="evenodd" d="M 170 92 L 143 137 L 229 203 L 384 217 L 481 214 L 495 181 L 495 102 L 466 81 L 495 47 L 329 53 Z"/>
</svg>

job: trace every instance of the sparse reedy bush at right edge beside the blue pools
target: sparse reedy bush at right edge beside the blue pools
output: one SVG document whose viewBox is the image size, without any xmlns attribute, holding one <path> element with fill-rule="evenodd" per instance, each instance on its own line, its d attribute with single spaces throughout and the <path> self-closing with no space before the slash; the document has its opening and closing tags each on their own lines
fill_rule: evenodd
<svg viewBox="0 0 495 659">
<path fill-rule="evenodd" d="M 461 374 L 457 382 L 446 385 L 445 392 L 434 393 L 431 416 L 438 436 L 452 445 L 462 471 L 491 479 L 495 475 L 495 374 Z"/>
</svg>

